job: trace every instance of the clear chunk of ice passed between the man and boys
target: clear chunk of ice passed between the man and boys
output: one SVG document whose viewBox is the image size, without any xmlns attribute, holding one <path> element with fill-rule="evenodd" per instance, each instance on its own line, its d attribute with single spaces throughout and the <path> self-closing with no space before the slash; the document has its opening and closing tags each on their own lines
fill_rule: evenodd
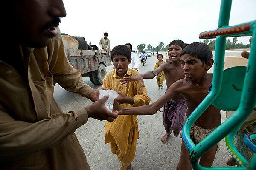
<svg viewBox="0 0 256 170">
<path fill-rule="evenodd" d="M 118 96 L 118 93 L 113 90 L 99 90 L 99 99 L 109 94 L 108 100 L 105 102 L 105 106 L 109 111 L 113 111 L 114 99 Z"/>
</svg>

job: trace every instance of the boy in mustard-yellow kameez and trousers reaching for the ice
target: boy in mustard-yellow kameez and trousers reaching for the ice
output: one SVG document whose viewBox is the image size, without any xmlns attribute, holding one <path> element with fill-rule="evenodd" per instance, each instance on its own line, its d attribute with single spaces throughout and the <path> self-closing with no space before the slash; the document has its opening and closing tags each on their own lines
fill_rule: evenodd
<svg viewBox="0 0 256 170">
<path fill-rule="evenodd" d="M 131 63 L 131 51 L 125 45 L 118 45 L 111 51 L 111 60 L 115 70 L 108 72 L 103 80 L 103 87 L 116 90 L 119 104 L 126 107 L 148 105 L 150 97 L 147 89 L 134 81 L 127 87 L 120 85 L 119 80 L 124 77 L 134 77 L 139 72 L 128 68 Z M 126 103 L 126 104 L 124 104 Z M 110 143 L 110 149 L 122 163 L 119 170 L 132 170 L 131 162 L 134 159 L 137 139 L 139 138 L 137 116 L 119 115 L 113 122 L 106 121 L 105 143 Z"/>
</svg>

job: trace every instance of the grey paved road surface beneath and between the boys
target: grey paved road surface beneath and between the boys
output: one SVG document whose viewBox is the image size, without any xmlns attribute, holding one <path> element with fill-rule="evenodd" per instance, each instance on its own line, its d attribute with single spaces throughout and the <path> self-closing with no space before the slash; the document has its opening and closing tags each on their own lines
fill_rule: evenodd
<svg viewBox="0 0 256 170">
<path fill-rule="evenodd" d="M 165 53 L 162 53 L 165 56 Z M 157 62 L 156 56 L 148 57 L 145 66 L 140 66 L 141 73 L 152 70 Z M 107 68 L 112 70 L 113 65 Z M 88 77 L 83 77 L 84 82 L 93 88 Z M 145 85 L 148 88 L 148 96 L 151 102 L 155 102 L 166 91 L 157 89 L 156 79 L 146 79 Z M 69 93 L 62 89 L 58 84 L 55 85 L 54 97 L 60 104 L 64 112 L 89 105 L 91 102 L 77 94 Z M 225 119 L 224 113 L 221 114 Z M 165 134 L 160 112 L 153 116 L 138 116 L 140 139 L 137 140 L 137 150 L 134 161 L 134 170 L 175 170 L 176 164 L 180 159 L 181 139 L 170 136 L 169 142 L 163 144 L 160 138 Z M 118 170 L 120 164 L 116 155 L 113 155 L 108 144 L 104 144 L 104 125 L 105 121 L 89 119 L 88 122 L 76 130 L 76 135 L 87 156 L 87 161 L 92 170 Z M 225 149 L 224 141 L 219 143 L 220 152 L 216 155 L 215 166 L 226 166 L 225 162 L 229 154 Z"/>
</svg>

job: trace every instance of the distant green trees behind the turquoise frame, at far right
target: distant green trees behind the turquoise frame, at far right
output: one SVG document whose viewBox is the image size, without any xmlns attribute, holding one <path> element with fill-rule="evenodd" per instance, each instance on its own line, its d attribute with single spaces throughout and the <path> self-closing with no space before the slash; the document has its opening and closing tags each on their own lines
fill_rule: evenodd
<svg viewBox="0 0 256 170">
<path fill-rule="evenodd" d="M 250 37 L 250 39 L 249 39 L 250 44 L 236 43 L 237 37 L 233 37 L 232 42 L 230 39 L 227 39 L 226 40 L 226 50 L 239 49 L 239 48 L 250 48 L 250 46 L 252 44 L 252 38 L 253 38 L 253 36 Z M 214 40 L 205 39 L 203 42 L 206 43 L 207 45 L 209 45 L 211 50 L 215 50 L 215 39 Z"/>
</svg>

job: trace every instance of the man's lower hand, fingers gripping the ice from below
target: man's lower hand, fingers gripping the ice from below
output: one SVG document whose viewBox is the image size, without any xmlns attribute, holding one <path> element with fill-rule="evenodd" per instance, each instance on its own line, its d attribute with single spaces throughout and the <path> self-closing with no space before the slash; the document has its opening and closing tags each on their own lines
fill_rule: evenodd
<svg viewBox="0 0 256 170">
<path fill-rule="evenodd" d="M 98 120 L 107 120 L 108 122 L 113 122 L 118 116 L 117 108 L 121 108 L 120 105 L 116 105 L 114 112 L 108 111 L 105 107 L 105 102 L 108 100 L 109 96 L 104 96 L 99 101 L 93 102 L 91 105 L 85 107 L 88 113 L 88 117 Z"/>
</svg>

